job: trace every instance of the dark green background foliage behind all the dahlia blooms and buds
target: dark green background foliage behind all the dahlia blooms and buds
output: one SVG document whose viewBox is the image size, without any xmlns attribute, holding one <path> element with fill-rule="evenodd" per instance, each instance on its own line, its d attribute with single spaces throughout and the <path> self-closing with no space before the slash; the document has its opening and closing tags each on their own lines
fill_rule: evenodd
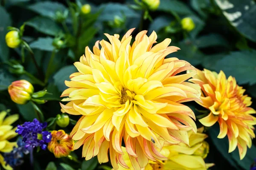
<svg viewBox="0 0 256 170">
<path fill-rule="evenodd" d="M 81 15 L 80 8 L 89 3 L 90 14 Z M 253 99 L 252 107 L 256 109 L 256 1 L 255 0 L 160 0 L 156 11 L 150 11 L 152 20 L 143 20 L 143 10 L 137 9 L 133 0 L 2 0 L 0 6 L 0 110 L 11 109 L 11 113 L 20 113 L 17 124 L 37 118 L 37 111 L 29 102 L 16 105 L 11 101 L 7 88 L 12 81 L 26 79 L 35 87 L 35 91 L 47 89 L 49 93 L 42 99 L 48 102 L 40 105 L 45 120 L 61 113 L 59 97 L 66 89 L 64 80 L 76 72 L 73 62 L 84 54 L 85 46 L 92 48 L 96 40 L 102 40 L 103 33 L 120 34 L 136 27 L 141 30 L 156 31 L 158 42 L 165 38 L 172 39 L 172 45 L 180 51 L 168 57 L 178 57 L 190 62 L 199 69 L 212 71 L 223 70 L 229 76 L 236 77 Z M 66 18 L 65 18 L 66 15 Z M 190 17 L 195 28 L 187 32 L 181 29 L 180 20 Z M 55 53 L 49 70 L 49 80 L 44 85 L 31 79 L 28 74 L 20 74 L 7 64 L 16 60 L 23 65 L 26 72 L 44 81 L 38 74 L 34 63 L 25 52 L 22 63 L 20 48 L 10 49 L 5 42 L 7 26 L 19 28 L 26 23 L 23 39 L 29 43 L 35 53 L 35 59 L 46 75 L 52 53 Z M 53 42 L 61 39 L 64 45 L 56 46 Z M 56 48 L 58 47 L 58 49 Z M 197 115 L 201 108 L 195 103 L 188 103 Z M 70 116 L 76 120 L 76 117 Z M 52 120 L 52 119 L 49 119 Z M 64 130 L 72 130 L 72 123 Z M 54 122 L 52 126 L 55 126 Z M 60 127 L 55 126 L 56 129 Z M 228 153 L 227 138 L 218 139 L 218 126 L 207 130 L 210 152 L 206 162 L 213 162 L 212 170 L 248 170 L 256 158 L 256 140 L 240 161 L 238 150 Z M 77 155 L 77 156 L 76 156 Z M 97 159 L 81 159 L 81 148 L 73 153 L 78 162 L 67 158 L 56 159 L 48 150 L 35 154 L 35 169 L 47 170 L 93 170 L 106 169 L 110 164 L 98 165 Z M 26 158 L 28 159 L 28 158 Z M 29 168 L 25 161 L 20 169 Z"/>
</svg>

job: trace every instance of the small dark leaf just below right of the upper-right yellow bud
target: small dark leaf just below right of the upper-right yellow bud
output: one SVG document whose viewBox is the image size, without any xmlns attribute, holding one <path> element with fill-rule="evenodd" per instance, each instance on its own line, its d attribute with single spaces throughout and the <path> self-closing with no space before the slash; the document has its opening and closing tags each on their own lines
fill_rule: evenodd
<svg viewBox="0 0 256 170">
<path fill-rule="evenodd" d="M 198 37 L 198 39 L 195 42 L 198 48 L 207 48 L 212 46 L 229 47 L 229 42 L 220 34 L 204 35 L 204 36 Z"/>
</svg>

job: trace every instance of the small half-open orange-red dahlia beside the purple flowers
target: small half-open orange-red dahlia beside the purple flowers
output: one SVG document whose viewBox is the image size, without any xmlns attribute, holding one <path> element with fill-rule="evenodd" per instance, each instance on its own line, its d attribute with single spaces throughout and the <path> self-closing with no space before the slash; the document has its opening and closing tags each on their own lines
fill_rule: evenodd
<svg viewBox="0 0 256 170">
<path fill-rule="evenodd" d="M 73 146 L 74 141 L 64 130 L 52 131 L 52 141 L 48 144 L 48 150 L 52 152 L 56 158 L 68 156 Z"/>
</svg>

